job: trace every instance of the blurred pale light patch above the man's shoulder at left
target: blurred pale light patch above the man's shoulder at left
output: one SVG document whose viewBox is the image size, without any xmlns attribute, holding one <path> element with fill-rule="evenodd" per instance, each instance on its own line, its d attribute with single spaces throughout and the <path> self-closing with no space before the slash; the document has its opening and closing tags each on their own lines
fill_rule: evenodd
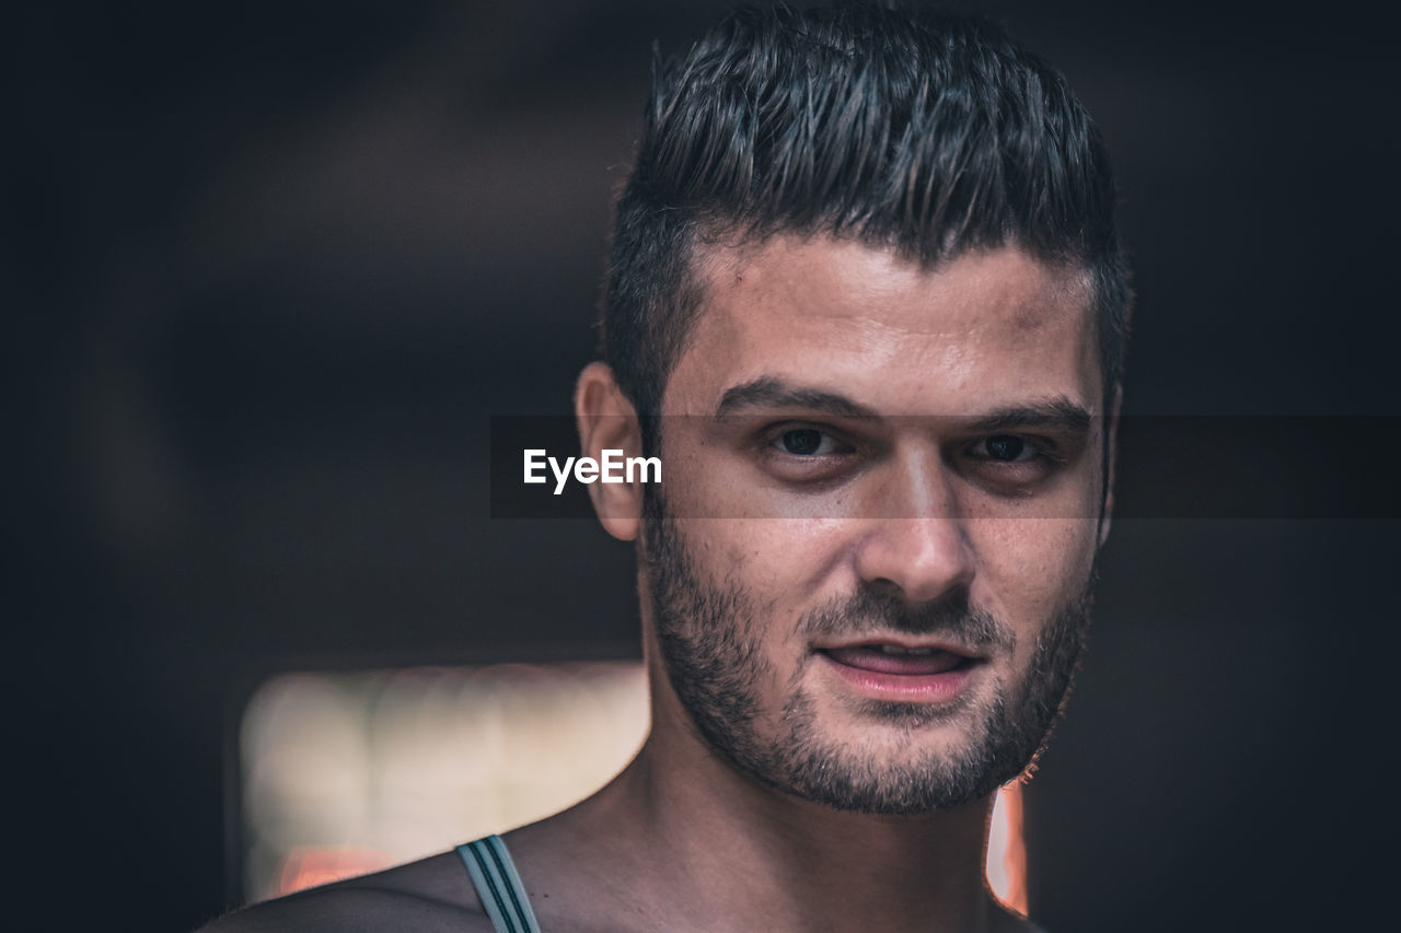
<svg viewBox="0 0 1401 933">
<path fill-rule="evenodd" d="M 276 677 L 242 716 L 244 895 L 548 817 L 616 775 L 647 724 L 632 661 Z"/>
</svg>

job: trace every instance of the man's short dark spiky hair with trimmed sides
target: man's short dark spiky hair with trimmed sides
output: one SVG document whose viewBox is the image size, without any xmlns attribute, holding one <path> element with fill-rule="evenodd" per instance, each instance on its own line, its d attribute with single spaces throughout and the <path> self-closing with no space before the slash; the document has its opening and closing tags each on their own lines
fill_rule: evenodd
<svg viewBox="0 0 1401 933">
<path fill-rule="evenodd" d="M 1132 293 L 1098 129 L 996 25 L 874 4 L 740 8 L 668 62 L 618 205 L 602 354 L 654 416 L 700 304 L 696 247 L 831 234 L 926 266 L 1016 244 L 1090 270 L 1105 396 Z"/>
</svg>

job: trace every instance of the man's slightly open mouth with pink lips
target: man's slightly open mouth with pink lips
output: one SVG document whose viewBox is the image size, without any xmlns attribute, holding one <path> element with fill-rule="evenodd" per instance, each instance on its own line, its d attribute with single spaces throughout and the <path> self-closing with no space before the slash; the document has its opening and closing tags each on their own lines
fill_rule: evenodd
<svg viewBox="0 0 1401 933">
<path fill-rule="evenodd" d="M 845 688 L 891 702 L 947 703 L 988 660 L 951 644 L 873 640 L 817 649 Z"/>
</svg>

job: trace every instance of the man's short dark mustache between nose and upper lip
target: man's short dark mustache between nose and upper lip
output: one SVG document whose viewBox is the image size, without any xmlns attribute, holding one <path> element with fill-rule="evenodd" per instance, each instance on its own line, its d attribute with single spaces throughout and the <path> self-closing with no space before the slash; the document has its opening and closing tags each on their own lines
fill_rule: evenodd
<svg viewBox="0 0 1401 933">
<path fill-rule="evenodd" d="M 969 649 L 1016 649 L 1017 636 L 1006 622 L 968 601 L 967 590 L 927 602 L 908 602 L 888 590 L 870 587 L 838 597 L 799 619 L 797 633 L 810 639 L 836 639 L 895 632 L 934 635 Z"/>
</svg>

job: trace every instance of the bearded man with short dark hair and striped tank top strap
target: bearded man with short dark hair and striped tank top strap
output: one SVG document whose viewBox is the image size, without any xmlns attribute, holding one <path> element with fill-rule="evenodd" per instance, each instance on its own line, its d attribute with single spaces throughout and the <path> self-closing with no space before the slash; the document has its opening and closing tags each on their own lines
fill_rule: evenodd
<svg viewBox="0 0 1401 933">
<path fill-rule="evenodd" d="M 542 822 L 228 930 L 1027 930 L 986 894 L 1108 531 L 1105 153 L 996 29 L 741 11 L 658 70 L 586 455 L 636 541 L 653 730 Z"/>
</svg>

